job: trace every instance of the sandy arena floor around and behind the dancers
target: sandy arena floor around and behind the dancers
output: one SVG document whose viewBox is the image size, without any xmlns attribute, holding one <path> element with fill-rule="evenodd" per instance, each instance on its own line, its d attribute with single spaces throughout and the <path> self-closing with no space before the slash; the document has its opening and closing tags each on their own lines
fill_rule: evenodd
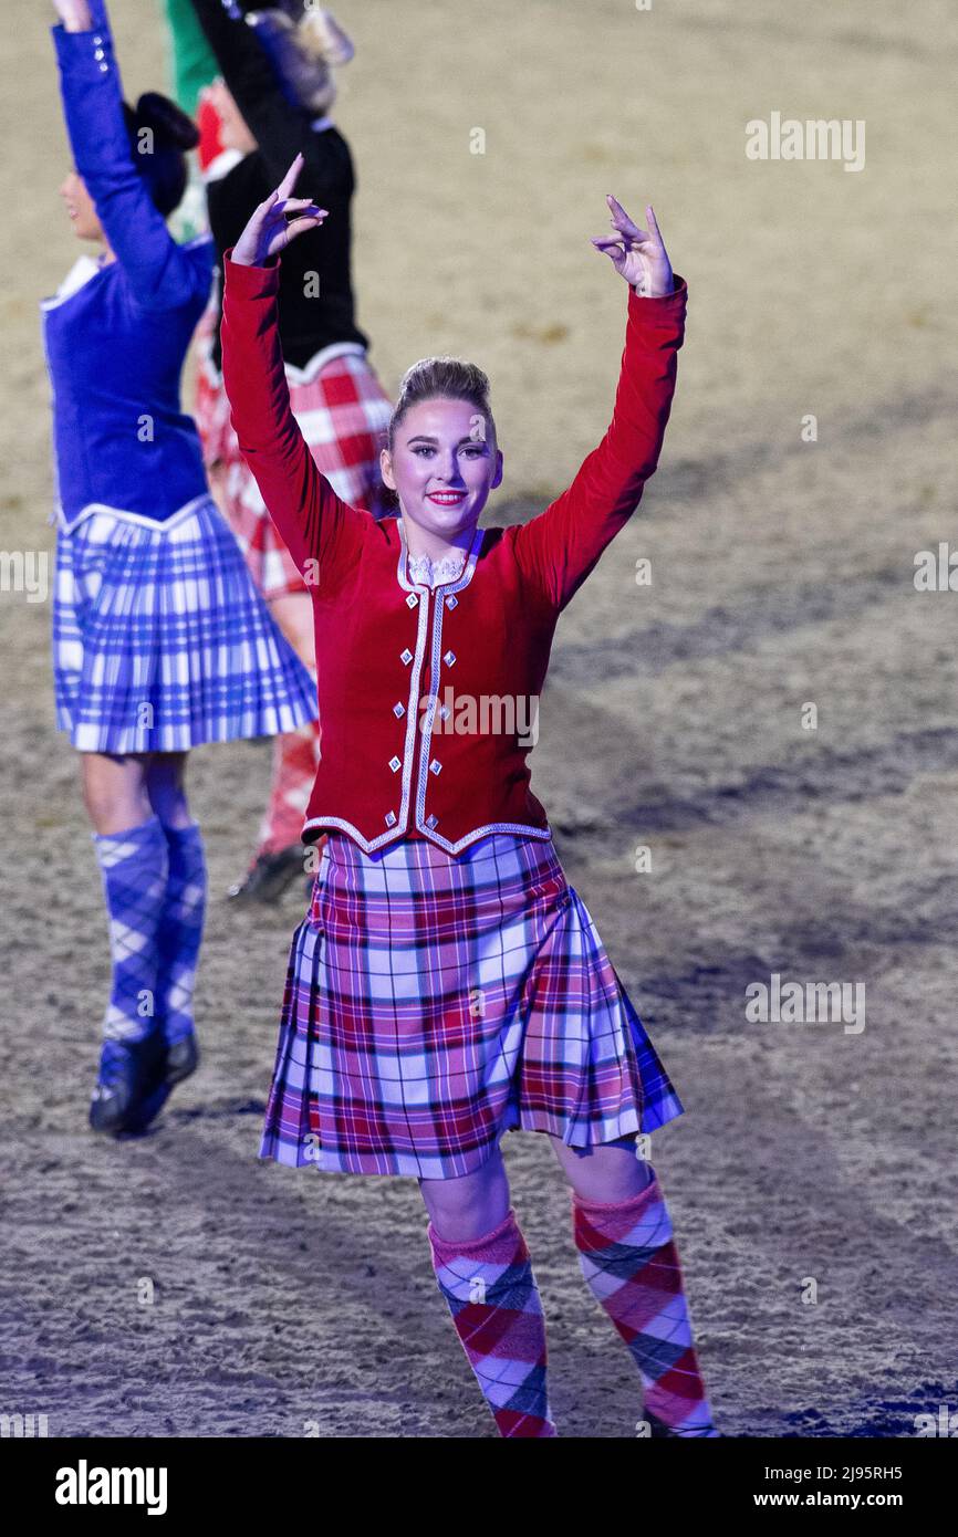
<svg viewBox="0 0 958 1537">
<path fill-rule="evenodd" d="M 37 303 L 77 255 L 48 9 L 8 0 L 3 37 L 5 550 L 52 550 Z M 360 323 L 391 389 L 427 352 L 492 375 L 489 521 L 544 506 L 606 427 L 624 289 L 587 235 L 607 191 L 655 203 L 689 281 L 663 464 L 560 627 L 534 782 L 686 1104 L 652 1156 L 720 1426 L 910 1436 L 958 1408 L 958 592 L 913 586 L 918 550 L 958 549 L 953 8 L 338 9 Z M 166 88 L 158 8 L 111 11 L 128 95 Z M 864 120 L 864 169 L 747 160 L 744 124 L 773 111 Z M 46 1413 L 52 1436 L 494 1436 L 415 1182 L 255 1157 L 301 916 L 301 896 L 223 901 L 266 744 L 192 768 L 201 1071 L 152 1136 L 88 1131 L 98 875 L 52 727 L 49 603 L 3 592 L 0 622 L 0 1409 Z M 864 984 L 866 1028 L 749 1024 L 744 990 L 772 973 Z M 504 1148 L 560 1431 L 632 1436 L 638 1380 L 581 1280 L 551 1148 Z"/>
</svg>

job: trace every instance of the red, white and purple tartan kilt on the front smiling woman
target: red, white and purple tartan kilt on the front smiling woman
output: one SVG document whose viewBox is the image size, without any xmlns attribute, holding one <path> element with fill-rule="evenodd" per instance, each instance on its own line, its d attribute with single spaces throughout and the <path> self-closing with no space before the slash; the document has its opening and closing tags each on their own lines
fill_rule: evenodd
<svg viewBox="0 0 958 1537">
<path fill-rule="evenodd" d="M 509 1130 L 589 1148 L 680 1114 L 551 839 L 495 833 L 454 858 L 329 832 L 260 1157 L 454 1179 Z"/>
</svg>

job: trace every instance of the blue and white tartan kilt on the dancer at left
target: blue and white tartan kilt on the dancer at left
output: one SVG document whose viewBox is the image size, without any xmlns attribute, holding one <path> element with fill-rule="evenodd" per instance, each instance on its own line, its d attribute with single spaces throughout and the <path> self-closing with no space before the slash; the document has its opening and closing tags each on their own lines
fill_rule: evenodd
<svg viewBox="0 0 958 1537">
<path fill-rule="evenodd" d="M 317 716 L 211 496 L 169 526 L 92 512 L 60 529 L 52 626 L 57 729 L 80 752 L 186 752 Z"/>
</svg>

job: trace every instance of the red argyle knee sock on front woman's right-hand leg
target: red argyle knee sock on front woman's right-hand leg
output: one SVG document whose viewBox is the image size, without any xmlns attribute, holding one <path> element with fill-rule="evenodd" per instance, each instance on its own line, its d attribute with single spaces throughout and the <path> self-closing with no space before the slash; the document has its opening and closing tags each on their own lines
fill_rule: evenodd
<svg viewBox="0 0 958 1537">
<path fill-rule="evenodd" d="M 638 1366 L 644 1406 L 677 1436 L 718 1436 L 706 1399 L 672 1223 L 655 1170 L 638 1196 L 572 1193 L 578 1260 Z"/>
</svg>

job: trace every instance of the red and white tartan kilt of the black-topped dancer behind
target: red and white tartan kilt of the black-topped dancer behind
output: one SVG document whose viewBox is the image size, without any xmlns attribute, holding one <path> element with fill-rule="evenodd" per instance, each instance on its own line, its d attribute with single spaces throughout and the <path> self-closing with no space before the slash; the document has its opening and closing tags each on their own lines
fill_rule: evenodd
<svg viewBox="0 0 958 1537">
<path fill-rule="evenodd" d="M 240 453 L 229 421 L 229 400 L 208 355 L 209 326 L 209 317 L 205 317 L 198 332 L 194 413 L 217 500 L 263 596 L 308 592 Z M 380 475 L 380 449 L 386 443 L 392 401 L 364 347 L 358 343 L 326 347 L 308 369 L 288 366 L 286 381 L 292 413 L 337 496 L 354 507 L 366 507 L 375 516 L 391 512 Z"/>
</svg>

